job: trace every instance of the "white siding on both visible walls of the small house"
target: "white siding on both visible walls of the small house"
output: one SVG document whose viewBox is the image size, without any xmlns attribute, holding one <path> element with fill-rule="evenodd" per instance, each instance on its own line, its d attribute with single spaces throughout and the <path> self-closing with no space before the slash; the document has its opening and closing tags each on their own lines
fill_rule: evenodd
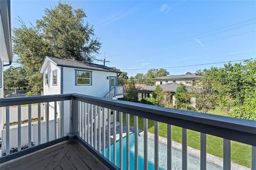
<svg viewBox="0 0 256 170">
<path fill-rule="evenodd" d="M 52 85 L 52 71 L 57 69 L 57 85 Z M 96 97 L 104 97 L 106 93 L 110 90 L 110 76 L 117 77 L 117 73 L 105 72 L 105 71 L 95 71 L 86 69 L 77 69 L 83 71 L 92 72 L 92 85 L 76 85 L 76 69 L 63 67 L 63 94 L 67 93 L 78 93 L 84 95 L 91 95 Z M 44 71 L 44 95 L 54 95 L 61 93 L 61 69 L 56 67 L 50 62 L 46 71 Z M 45 84 L 45 74 L 48 73 L 48 85 Z M 108 77 L 108 79 L 107 79 Z M 54 102 L 50 102 L 50 106 L 54 106 Z M 70 130 L 70 101 L 64 101 L 63 106 L 64 114 L 64 135 L 66 135 Z M 60 117 L 60 103 L 57 106 L 58 117 Z M 50 120 L 54 117 L 54 110 L 50 107 Z M 100 114 L 102 116 L 102 114 Z M 105 112 L 105 117 L 107 112 Z"/>
</svg>

